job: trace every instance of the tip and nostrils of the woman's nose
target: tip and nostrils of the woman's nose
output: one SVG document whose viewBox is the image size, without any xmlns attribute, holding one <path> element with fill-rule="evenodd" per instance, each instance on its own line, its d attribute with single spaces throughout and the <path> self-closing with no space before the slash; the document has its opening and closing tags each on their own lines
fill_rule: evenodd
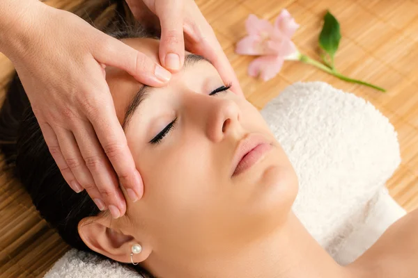
<svg viewBox="0 0 418 278">
<path fill-rule="evenodd" d="M 231 99 L 214 99 L 206 133 L 214 142 L 222 141 L 240 128 L 240 108 Z"/>
</svg>

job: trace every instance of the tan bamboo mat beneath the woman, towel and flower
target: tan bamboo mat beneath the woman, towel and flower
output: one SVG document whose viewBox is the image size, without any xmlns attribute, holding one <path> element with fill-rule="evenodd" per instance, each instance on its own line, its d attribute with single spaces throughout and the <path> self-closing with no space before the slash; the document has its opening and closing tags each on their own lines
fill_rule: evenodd
<svg viewBox="0 0 418 278">
<path fill-rule="evenodd" d="M 402 164 L 387 187 L 405 209 L 418 208 L 418 0 L 196 0 L 229 56 L 247 98 L 258 108 L 295 81 L 326 81 L 354 92 L 377 106 L 394 124 L 401 143 Z M 68 1 L 74 4 L 75 1 Z M 51 0 L 49 4 L 63 5 Z M 251 58 L 234 54 L 245 35 L 250 13 L 273 19 L 287 8 L 301 25 L 294 42 L 304 54 L 318 58 L 318 33 L 325 10 L 339 19 L 343 38 L 336 66 L 348 76 L 376 83 L 378 92 L 344 83 L 300 63 L 286 62 L 277 78 L 261 82 L 247 76 Z M 0 54 L 1 55 L 1 54 Z M 0 86 L 11 65 L 0 56 Z M 0 92 L 3 97 L 3 91 Z M 378 140 L 378 138 L 376 138 Z M 0 278 L 42 277 L 68 247 L 47 227 L 16 183 L 0 178 Z"/>
</svg>

